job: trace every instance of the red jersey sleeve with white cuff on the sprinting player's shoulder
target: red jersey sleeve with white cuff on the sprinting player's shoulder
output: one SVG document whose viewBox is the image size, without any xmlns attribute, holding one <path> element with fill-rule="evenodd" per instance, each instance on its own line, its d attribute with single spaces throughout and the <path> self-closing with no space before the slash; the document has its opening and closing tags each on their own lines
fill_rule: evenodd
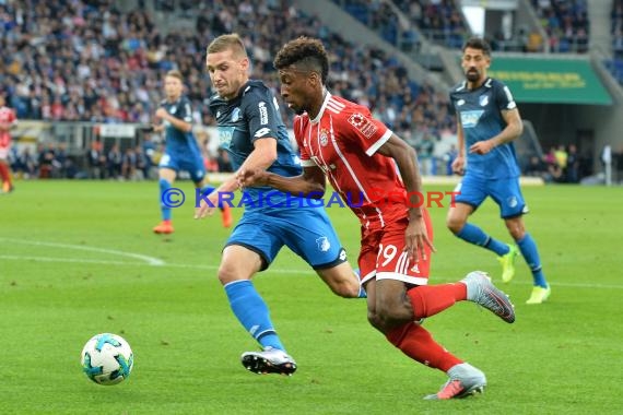
<svg viewBox="0 0 623 415">
<path fill-rule="evenodd" d="M 340 121 L 344 141 L 358 145 L 368 156 L 374 155 L 393 133 L 363 107 L 345 112 Z"/>
</svg>

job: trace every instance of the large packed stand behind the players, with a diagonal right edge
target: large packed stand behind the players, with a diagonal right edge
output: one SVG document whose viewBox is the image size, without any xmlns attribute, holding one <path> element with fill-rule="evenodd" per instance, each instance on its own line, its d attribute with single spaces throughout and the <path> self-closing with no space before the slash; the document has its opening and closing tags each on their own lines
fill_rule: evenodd
<svg viewBox="0 0 623 415">
<path fill-rule="evenodd" d="M 20 119 L 150 123 L 162 96 L 163 73 L 178 68 L 197 108 L 196 119 L 211 124 L 204 105 L 210 83 L 203 47 L 233 31 L 246 38 L 254 78 L 263 79 L 275 93 L 274 51 L 287 39 L 319 36 L 332 54 L 329 86 L 337 94 L 369 106 L 413 145 L 424 135 L 437 139 L 440 131 L 454 129 L 445 93 L 419 85 L 385 51 L 344 42 L 285 1 L 203 3 L 200 12 L 188 13 L 198 16 L 196 31 L 167 33 L 155 25 L 148 9 L 122 13 L 113 1 L 98 4 L 0 4 L 0 38 L 7 51 L 0 80 Z M 189 4 L 160 1 L 156 7 L 173 12 Z M 258 12 L 266 19 L 251 19 Z M 296 25 L 287 24 L 292 19 Z M 390 25 L 380 17 L 374 24 Z M 292 116 L 284 111 L 284 117 Z M 411 131 L 414 124 L 419 127 Z M 104 157 L 108 151 L 102 151 Z"/>
</svg>

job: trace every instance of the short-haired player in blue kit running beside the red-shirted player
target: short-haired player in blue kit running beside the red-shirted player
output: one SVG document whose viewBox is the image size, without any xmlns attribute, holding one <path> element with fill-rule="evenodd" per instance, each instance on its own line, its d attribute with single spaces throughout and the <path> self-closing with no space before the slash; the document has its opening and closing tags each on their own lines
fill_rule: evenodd
<svg viewBox="0 0 623 415">
<path fill-rule="evenodd" d="M 298 154 L 291 145 L 277 99 L 261 81 L 249 80 L 249 58 L 240 37 L 231 34 L 215 38 L 208 46 L 205 63 L 216 91 L 210 110 L 234 168 L 299 176 Z M 219 194 L 230 195 L 236 189 L 235 178 L 225 181 L 207 198 L 209 203 L 201 201 L 195 217 L 211 214 Z M 277 334 L 251 277 L 266 270 L 279 250 L 287 246 L 334 294 L 363 297 L 365 293 L 322 208 L 312 208 L 305 200 L 268 187 L 245 188 L 244 198 L 245 212 L 223 249 L 219 280 L 234 315 L 263 348 L 243 354 L 243 365 L 256 374 L 291 375 L 296 363 Z"/>
</svg>

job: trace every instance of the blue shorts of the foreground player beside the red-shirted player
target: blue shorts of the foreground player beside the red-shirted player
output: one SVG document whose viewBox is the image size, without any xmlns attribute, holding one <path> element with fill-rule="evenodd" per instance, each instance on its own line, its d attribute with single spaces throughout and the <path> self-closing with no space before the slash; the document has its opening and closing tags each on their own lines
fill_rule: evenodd
<svg viewBox="0 0 623 415">
<path fill-rule="evenodd" d="M 285 245 L 315 270 L 346 261 L 325 209 L 247 210 L 225 246 L 239 245 L 262 259 L 266 270 Z"/>
</svg>

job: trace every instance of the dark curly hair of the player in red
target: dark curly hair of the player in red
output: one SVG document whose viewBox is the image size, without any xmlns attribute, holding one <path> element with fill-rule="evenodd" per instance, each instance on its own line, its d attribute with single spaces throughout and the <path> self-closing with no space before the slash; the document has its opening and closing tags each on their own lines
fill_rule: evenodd
<svg viewBox="0 0 623 415">
<path fill-rule="evenodd" d="M 322 84 L 327 82 L 329 75 L 327 50 L 320 40 L 312 37 L 301 36 L 290 40 L 277 54 L 273 66 L 278 70 L 295 66 L 297 70 L 317 72 Z"/>
</svg>

